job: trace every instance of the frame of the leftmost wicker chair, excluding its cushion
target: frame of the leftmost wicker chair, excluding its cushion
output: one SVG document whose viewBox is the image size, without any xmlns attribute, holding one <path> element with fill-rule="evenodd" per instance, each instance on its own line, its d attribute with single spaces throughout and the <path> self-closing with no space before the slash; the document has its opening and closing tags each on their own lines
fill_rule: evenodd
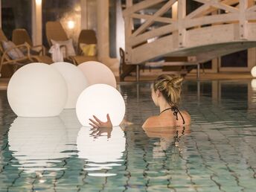
<svg viewBox="0 0 256 192">
<path fill-rule="evenodd" d="M 8 39 L 4 35 L 4 32 L 0 28 L 0 42 L 2 42 L 2 41 L 7 42 Z M 17 49 L 17 48 L 19 50 L 20 49 L 25 50 L 25 54 L 24 54 L 24 56 L 19 57 L 17 59 L 12 59 L 9 56 L 9 52 L 13 51 L 14 49 Z M 51 60 L 51 57 L 31 54 L 31 47 L 30 47 L 30 45 L 28 45 L 28 43 L 24 43 L 22 45 L 15 45 L 12 48 L 7 48 L 6 50 L 4 50 L 2 44 L 0 43 L 0 55 L 1 55 L 1 58 L 0 58 L 0 77 L 5 76 L 4 74 L 1 75 L 1 70 L 3 69 L 3 67 L 5 68 L 7 65 L 13 65 L 13 71 L 16 71 L 16 69 L 19 66 L 26 65 L 28 63 L 33 63 L 33 62 L 48 63 L 48 64 L 53 63 L 52 60 Z"/>
</svg>

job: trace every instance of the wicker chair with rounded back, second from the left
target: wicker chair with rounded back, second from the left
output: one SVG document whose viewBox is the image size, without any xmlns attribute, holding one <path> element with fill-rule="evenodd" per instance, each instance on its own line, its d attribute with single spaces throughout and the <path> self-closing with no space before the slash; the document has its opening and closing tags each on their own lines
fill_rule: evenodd
<svg viewBox="0 0 256 192">
<path fill-rule="evenodd" d="M 28 31 L 26 31 L 25 29 L 18 28 L 13 30 L 12 41 L 15 45 L 22 45 L 27 42 L 28 45 L 31 47 L 31 53 L 33 52 L 35 54 L 45 55 L 45 47 L 43 45 L 33 46 L 31 37 L 29 36 Z"/>
</svg>

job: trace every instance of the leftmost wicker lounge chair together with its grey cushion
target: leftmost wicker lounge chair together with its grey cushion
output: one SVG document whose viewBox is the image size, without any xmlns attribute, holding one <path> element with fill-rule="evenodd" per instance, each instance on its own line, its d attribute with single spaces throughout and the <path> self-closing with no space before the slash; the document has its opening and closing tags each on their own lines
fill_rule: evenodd
<svg viewBox="0 0 256 192">
<path fill-rule="evenodd" d="M 13 71 L 16 71 L 19 66 L 26 65 L 28 63 L 53 63 L 51 57 L 31 54 L 31 47 L 28 43 L 15 45 L 13 42 L 8 41 L 1 28 L 0 42 L 0 77 L 5 76 L 5 74 L 1 75 L 1 70 L 7 65 L 13 65 Z M 25 53 L 22 52 L 24 50 Z"/>
</svg>

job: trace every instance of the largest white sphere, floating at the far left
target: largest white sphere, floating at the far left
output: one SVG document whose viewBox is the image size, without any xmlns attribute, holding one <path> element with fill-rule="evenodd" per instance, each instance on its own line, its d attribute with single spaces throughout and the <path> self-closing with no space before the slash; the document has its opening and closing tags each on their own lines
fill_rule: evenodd
<svg viewBox="0 0 256 192">
<path fill-rule="evenodd" d="M 50 117 L 62 112 L 67 100 L 63 76 L 44 63 L 19 68 L 7 87 L 11 109 L 20 117 Z"/>
</svg>

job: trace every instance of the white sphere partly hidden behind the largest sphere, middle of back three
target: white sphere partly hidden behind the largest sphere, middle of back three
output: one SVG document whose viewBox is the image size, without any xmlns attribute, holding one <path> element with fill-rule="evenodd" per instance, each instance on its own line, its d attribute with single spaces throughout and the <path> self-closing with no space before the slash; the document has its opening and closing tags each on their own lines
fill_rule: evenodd
<svg viewBox="0 0 256 192">
<path fill-rule="evenodd" d="M 64 109 L 74 109 L 80 93 L 88 86 L 86 77 L 76 65 L 65 62 L 51 64 L 63 75 L 68 86 L 68 98 Z"/>
</svg>

